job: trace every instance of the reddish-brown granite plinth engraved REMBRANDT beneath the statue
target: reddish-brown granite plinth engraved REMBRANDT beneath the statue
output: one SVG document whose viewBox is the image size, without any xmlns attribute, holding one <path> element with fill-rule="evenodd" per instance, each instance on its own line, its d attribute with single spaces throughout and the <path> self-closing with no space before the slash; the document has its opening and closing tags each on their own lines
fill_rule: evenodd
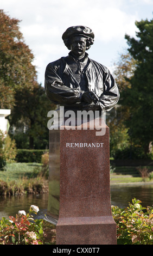
<svg viewBox="0 0 153 256">
<path fill-rule="evenodd" d="M 95 124 L 91 130 L 90 121 L 84 123 L 84 130 L 77 127 L 67 130 L 62 126 L 61 130 L 50 131 L 52 145 L 56 145 L 56 164 L 52 166 L 50 160 L 50 168 L 54 169 L 49 178 L 50 199 L 53 200 L 48 203 L 48 215 L 57 220 L 58 245 L 116 244 L 116 223 L 110 200 L 109 127 L 103 120 L 101 123 L 104 136 L 96 135 L 98 126 L 95 129 Z M 55 137 L 58 141 L 53 143 Z"/>
</svg>

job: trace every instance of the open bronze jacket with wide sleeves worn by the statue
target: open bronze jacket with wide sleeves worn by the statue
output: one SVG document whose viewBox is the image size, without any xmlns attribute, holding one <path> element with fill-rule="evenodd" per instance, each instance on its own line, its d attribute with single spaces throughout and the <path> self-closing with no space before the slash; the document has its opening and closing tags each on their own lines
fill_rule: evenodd
<svg viewBox="0 0 153 256">
<path fill-rule="evenodd" d="M 87 53 L 86 53 L 87 54 Z M 102 109 L 110 111 L 119 100 L 119 90 L 110 71 L 104 66 L 88 58 L 89 64 L 84 70 L 89 91 L 98 98 L 98 108 L 95 103 L 81 100 L 84 91 L 67 64 L 67 57 L 61 57 L 49 63 L 45 72 L 44 88 L 48 98 L 56 105 L 75 109 Z"/>
</svg>

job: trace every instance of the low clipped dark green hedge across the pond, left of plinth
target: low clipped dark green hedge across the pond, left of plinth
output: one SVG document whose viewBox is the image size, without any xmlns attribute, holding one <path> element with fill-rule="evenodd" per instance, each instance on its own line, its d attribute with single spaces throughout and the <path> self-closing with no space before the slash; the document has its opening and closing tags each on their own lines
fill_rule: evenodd
<svg viewBox="0 0 153 256">
<path fill-rule="evenodd" d="M 17 149 L 16 161 L 20 163 L 41 163 L 41 156 L 46 149 Z"/>
</svg>

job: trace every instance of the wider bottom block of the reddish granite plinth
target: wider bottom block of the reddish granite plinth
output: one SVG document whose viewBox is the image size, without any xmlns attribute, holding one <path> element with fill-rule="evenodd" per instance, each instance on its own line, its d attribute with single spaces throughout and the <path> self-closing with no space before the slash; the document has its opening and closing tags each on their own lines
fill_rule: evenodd
<svg viewBox="0 0 153 256">
<path fill-rule="evenodd" d="M 116 223 L 111 216 L 60 218 L 57 245 L 116 245 Z"/>
</svg>

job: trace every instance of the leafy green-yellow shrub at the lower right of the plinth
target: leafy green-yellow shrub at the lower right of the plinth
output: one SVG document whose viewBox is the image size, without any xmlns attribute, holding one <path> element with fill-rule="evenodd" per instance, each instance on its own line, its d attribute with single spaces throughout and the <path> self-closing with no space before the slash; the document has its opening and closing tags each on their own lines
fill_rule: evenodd
<svg viewBox="0 0 153 256">
<path fill-rule="evenodd" d="M 132 199 L 129 207 L 112 206 L 112 215 L 117 223 L 118 245 L 152 245 L 153 207 L 143 208 L 140 200 Z M 146 212 L 144 212 L 146 210 Z"/>
</svg>

